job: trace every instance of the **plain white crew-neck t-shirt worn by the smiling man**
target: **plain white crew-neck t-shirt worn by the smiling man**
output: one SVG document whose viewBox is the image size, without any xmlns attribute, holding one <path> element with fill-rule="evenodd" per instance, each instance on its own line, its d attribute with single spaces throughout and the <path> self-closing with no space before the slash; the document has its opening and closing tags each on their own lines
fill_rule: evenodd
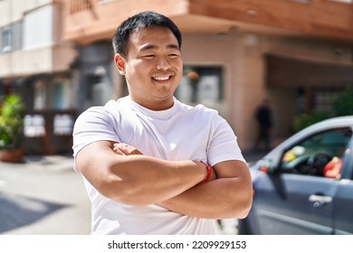
<svg viewBox="0 0 353 253">
<path fill-rule="evenodd" d="M 201 105 L 190 107 L 176 98 L 174 106 L 163 111 L 143 108 L 129 97 L 89 108 L 76 120 L 73 156 L 85 145 L 101 140 L 126 143 L 144 155 L 169 161 L 245 162 L 232 128 L 217 111 Z M 129 206 L 111 201 L 84 182 L 92 203 L 92 234 L 216 233 L 216 220 L 188 217 L 155 204 Z"/>
</svg>

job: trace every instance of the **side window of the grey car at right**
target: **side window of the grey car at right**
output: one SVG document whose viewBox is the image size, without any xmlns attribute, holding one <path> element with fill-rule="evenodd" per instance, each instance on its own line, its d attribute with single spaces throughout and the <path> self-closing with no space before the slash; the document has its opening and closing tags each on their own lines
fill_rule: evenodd
<svg viewBox="0 0 353 253">
<path fill-rule="evenodd" d="M 291 146 L 281 157 L 281 171 L 335 178 L 352 136 L 350 128 L 331 129 Z"/>
</svg>

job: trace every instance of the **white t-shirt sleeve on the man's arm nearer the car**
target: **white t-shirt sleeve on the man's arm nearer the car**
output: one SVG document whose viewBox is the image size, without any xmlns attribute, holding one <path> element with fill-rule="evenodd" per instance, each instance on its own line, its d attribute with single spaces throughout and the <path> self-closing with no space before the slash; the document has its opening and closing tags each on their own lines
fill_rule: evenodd
<svg viewBox="0 0 353 253">
<path fill-rule="evenodd" d="M 238 145 L 237 137 L 224 118 L 217 115 L 212 128 L 207 151 L 208 163 L 212 166 L 229 160 L 239 160 L 246 163 Z"/>
</svg>

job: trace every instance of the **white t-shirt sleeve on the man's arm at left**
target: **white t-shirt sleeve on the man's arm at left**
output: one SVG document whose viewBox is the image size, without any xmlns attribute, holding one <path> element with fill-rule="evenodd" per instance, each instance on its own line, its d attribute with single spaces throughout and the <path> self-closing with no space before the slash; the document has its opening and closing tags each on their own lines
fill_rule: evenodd
<svg viewBox="0 0 353 253">
<path fill-rule="evenodd" d="M 106 108 L 94 107 L 84 111 L 75 121 L 73 126 L 73 157 L 80 150 L 97 141 L 116 141 L 119 136 L 114 130 L 114 121 Z"/>
</svg>

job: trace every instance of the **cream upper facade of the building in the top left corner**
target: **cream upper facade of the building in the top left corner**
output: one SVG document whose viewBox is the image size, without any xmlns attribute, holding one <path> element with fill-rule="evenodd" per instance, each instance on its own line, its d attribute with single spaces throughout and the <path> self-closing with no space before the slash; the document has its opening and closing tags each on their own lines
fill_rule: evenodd
<svg viewBox="0 0 353 253">
<path fill-rule="evenodd" d="M 12 27 L 13 46 L 10 53 L 0 55 L 0 77 L 68 70 L 77 52 L 71 42 L 62 42 L 62 6 L 51 2 L 14 1 L 18 8 L 12 18 L 2 19 L 3 25 Z"/>
</svg>

